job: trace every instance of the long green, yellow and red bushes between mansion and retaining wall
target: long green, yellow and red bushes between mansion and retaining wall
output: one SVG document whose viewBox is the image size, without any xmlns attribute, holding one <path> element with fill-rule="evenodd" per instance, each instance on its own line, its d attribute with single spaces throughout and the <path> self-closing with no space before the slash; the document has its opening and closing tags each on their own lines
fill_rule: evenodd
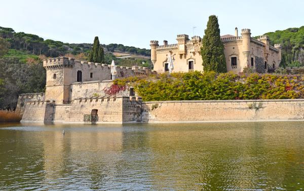
<svg viewBox="0 0 304 191">
<path fill-rule="evenodd" d="M 304 98 L 300 75 L 176 72 L 117 79 L 113 86 L 126 85 L 133 86 L 144 101 Z"/>
</svg>

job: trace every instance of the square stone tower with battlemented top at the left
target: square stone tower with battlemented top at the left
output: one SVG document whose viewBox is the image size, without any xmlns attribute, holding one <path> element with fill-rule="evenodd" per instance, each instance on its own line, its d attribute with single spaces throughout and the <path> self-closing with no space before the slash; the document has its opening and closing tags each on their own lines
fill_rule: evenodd
<svg viewBox="0 0 304 191">
<path fill-rule="evenodd" d="M 69 102 L 73 58 L 51 58 L 43 60 L 47 71 L 45 100 L 55 100 L 56 104 Z"/>
</svg>

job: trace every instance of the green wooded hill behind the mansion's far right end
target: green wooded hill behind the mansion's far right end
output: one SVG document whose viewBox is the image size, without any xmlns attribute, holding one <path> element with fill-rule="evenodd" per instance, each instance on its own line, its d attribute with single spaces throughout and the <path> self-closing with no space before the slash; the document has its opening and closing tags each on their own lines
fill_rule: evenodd
<svg viewBox="0 0 304 191">
<path fill-rule="evenodd" d="M 282 44 L 281 66 L 304 66 L 304 26 L 265 33 L 271 45 Z"/>
</svg>

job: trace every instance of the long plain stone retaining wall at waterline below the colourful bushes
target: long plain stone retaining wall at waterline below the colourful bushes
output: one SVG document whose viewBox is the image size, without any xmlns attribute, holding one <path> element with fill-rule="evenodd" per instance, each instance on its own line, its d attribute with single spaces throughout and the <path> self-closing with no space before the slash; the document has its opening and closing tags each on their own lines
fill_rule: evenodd
<svg viewBox="0 0 304 191">
<path fill-rule="evenodd" d="M 143 102 L 141 118 L 142 122 L 304 120 L 304 99 Z"/>
</svg>

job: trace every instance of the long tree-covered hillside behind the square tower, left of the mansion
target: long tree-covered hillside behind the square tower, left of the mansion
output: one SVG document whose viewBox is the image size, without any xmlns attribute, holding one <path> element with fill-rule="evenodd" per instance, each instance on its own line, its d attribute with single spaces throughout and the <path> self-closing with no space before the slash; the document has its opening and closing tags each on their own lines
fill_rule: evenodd
<svg viewBox="0 0 304 191">
<path fill-rule="evenodd" d="M 5 28 L 0 26 L 0 37 L 6 39 L 11 49 L 26 51 L 28 54 L 45 55 L 47 57 L 58 57 L 66 54 L 77 55 L 80 53 L 88 54 L 93 44 L 69 44 L 60 41 L 53 41 L 50 39 L 44 40 L 42 37 L 35 34 L 28 34 L 24 32 L 15 32 L 12 28 Z M 92 36 L 93 42 L 94 36 Z M 102 38 L 100 38 L 102 41 Z M 102 44 L 102 42 L 101 42 Z M 150 56 L 150 50 L 140 49 L 136 47 L 124 46 L 121 44 L 103 45 L 105 51 L 122 52 L 130 54 L 138 54 L 142 56 Z"/>
</svg>

